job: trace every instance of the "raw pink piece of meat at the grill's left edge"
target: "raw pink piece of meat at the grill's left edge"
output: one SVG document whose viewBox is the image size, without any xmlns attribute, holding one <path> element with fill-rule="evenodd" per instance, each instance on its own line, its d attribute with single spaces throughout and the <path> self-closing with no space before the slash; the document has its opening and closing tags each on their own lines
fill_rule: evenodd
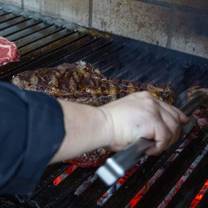
<svg viewBox="0 0 208 208">
<path fill-rule="evenodd" d="M 0 66 L 19 60 L 19 53 L 15 43 L 0 37 Z"/>
</svg>

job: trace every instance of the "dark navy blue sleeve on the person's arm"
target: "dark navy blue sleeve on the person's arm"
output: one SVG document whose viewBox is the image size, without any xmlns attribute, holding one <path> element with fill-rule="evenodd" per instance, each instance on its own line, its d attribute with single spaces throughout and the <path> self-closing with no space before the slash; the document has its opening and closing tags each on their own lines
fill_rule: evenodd
<svg viewBox="0 0 208 208">
<path fill-rule="evenodd" d="M 55 99 L 0 82 L 0 194 L 30 194 L 64 133 Z"/>
</svg>

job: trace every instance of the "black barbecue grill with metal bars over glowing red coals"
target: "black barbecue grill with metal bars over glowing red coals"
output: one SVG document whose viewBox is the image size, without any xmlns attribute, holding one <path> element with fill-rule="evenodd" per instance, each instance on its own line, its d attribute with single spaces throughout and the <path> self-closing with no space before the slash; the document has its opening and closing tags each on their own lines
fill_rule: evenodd
<svg viewBox="0 0 208 208">
<path fill-rule="evenodd" d="M 208 60 L 114 35 L 75 30 L 0 9 L 0 36 L 14 41 L 21 61 L 1 67 L 0 79 L 43 66 L 79 60 L 106 76 L 168 84 L 177 94 L 207 87 Z M 208 138 L 182 140 L 160 157 L 141 161 L 112 187 L 95 169 L 60 163 L 49 167 L 29 199 L 1 196 L 1 207 L 207 207 Z"/>
</svg>

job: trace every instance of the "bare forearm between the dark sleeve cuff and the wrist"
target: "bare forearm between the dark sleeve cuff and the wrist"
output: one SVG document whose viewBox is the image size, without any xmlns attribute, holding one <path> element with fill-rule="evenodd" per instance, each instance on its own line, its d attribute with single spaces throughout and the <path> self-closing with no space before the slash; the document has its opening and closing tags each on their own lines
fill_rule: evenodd
<svg viewBox="0 0 208 208">
<path fill-rule="evenodd" d="M 71 159 L 110 144 L 109 122 L 96 107 L 59 100 L 64 113 L 65 138 L 52 163 Z"/>
</svg>

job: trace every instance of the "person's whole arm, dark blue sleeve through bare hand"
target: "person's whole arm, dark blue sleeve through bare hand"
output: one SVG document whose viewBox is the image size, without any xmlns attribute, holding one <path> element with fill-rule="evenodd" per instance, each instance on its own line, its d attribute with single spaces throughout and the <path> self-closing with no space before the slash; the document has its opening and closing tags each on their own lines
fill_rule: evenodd
<svg viewBox="0 0 208 208">
<path fill-rule="evenodd" d="M 148 93 L 102 107 L 57 102 L 3 83 L 0 93 L 0 194 L 31 193 L 50 161 L 98 147 L 118 150 L 145 136 L 156 141 L 148 153 L 159 153 L 177 139 L 180 123 L 187 120 Z"/>
</svg>

